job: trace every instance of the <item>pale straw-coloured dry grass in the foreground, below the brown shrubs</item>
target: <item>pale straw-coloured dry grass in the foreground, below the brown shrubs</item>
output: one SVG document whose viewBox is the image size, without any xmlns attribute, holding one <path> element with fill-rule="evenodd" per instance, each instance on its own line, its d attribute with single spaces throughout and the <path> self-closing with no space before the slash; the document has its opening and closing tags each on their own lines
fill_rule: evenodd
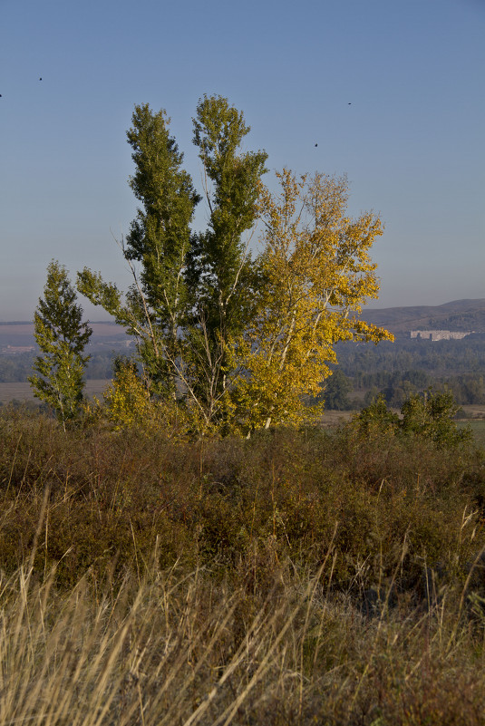
<svg viewBox="0 0 485 726">
<path fill-rule="evenodd" d="M 30 569 L 1 584 L 0 722 L 35 726 L 482 724 L 483 601 L 368 616 L 289 563 L 266 593 L 208 570 L 151 570 L 60 594 Z M 327 585 L 323 582 L 326 580 Z"/>
</svg>

